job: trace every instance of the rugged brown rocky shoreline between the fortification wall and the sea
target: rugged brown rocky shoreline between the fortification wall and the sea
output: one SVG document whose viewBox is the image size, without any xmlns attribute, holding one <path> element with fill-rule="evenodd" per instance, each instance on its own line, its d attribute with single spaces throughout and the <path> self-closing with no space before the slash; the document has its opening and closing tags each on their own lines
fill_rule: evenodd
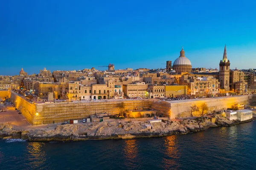
<svg viewBox="0 0 256 170">
<path fill-rule="evenodd" d="M 10 124 L 0 124 L 0 138 L 22 139 L 28 141 L 84 141 L 99 139 L 131 139 L 185 135 L 207 130 L 210 127 L 227 127 L 252 121 L 229 121 L 215 115 L 215 123 L 207 116 L 192 120 L 164 121 L 152 123 L 153 129 L 147 129 L 146 121 L 113 121 L 92 124 L 57 125 L 54 130 L 33 129 L 14 130 Z M 255 117 L 253 118 L 255 119 Z"/>
</svg>

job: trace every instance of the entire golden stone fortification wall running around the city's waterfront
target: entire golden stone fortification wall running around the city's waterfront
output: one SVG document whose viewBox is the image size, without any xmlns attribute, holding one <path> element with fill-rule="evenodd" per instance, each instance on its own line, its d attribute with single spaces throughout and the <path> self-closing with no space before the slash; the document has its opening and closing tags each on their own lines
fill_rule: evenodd
<svg viewBox="0 0 256 170">
<path fill-rule="evenodd" d="M 137 108 L 157 110 L 168 118 L 191 116 L 191 106 L 199 107 L 193 115 L 201 114 L 201 104 L 206 103 L 208 112 L 220 111 L 231 108 L 233 104 L 249 104 L 249 96 L 221 97 L 190 99 L 182 101 L 158 101 L 157 99 L 140 100 L 102 100 L 102 101 L 73 101 L 60 103 L 33 103 L 23 96 L 11 91 L 11 101 L 20 110 L 30 124 L 52 124 L 68 121 L 70 119 L 87 118 L 90 115 L 100 112 L 107 112 L 111 115 L 119 114 L 119 104 L 124 103 L 124 110 Z"/>
</svg>

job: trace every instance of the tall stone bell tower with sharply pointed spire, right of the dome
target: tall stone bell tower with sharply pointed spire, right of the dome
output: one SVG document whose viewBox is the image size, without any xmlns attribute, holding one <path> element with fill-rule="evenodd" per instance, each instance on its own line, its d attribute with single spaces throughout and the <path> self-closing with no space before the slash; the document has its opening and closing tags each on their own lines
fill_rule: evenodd
<svg viewBox="0 0 256 170">
<path fill-rule="evenodd" d="M 223 59 L 220 62 L 220 69 L 219 69 L 219 82 L 220 82 L 221 89 L 225 89 L 225 91 L 230 90 L 229 79 L 230 79 L 230 61 L 227 60 L 227 51 L 226 51 L 226 44 L 225 44 Z"/>
</svg>

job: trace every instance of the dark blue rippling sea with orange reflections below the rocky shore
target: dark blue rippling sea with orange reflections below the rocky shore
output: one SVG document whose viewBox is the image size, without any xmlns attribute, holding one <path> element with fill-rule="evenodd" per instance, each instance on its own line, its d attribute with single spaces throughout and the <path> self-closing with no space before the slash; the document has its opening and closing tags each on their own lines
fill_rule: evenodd
<svg viewBox="0 0 256 170">
<path fill-rule="evenodd" d="M 188 135 L 131 140 L 0 140 L 0 170 L 254 170 L 256 121 Z"/>
</svg>

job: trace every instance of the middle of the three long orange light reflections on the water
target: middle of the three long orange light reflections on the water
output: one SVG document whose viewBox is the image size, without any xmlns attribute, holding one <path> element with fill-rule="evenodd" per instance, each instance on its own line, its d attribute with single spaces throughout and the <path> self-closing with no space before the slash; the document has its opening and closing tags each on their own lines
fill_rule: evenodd
<svg viewBox="0 0 256 170">
<path fill-rule="evenodd" d="M 134 165 L 138 164 L 138 144 L 137 140 L 125 140 L 124 147 L 124 164 L 127 167 L 134 167 Z"/>
</svg>

